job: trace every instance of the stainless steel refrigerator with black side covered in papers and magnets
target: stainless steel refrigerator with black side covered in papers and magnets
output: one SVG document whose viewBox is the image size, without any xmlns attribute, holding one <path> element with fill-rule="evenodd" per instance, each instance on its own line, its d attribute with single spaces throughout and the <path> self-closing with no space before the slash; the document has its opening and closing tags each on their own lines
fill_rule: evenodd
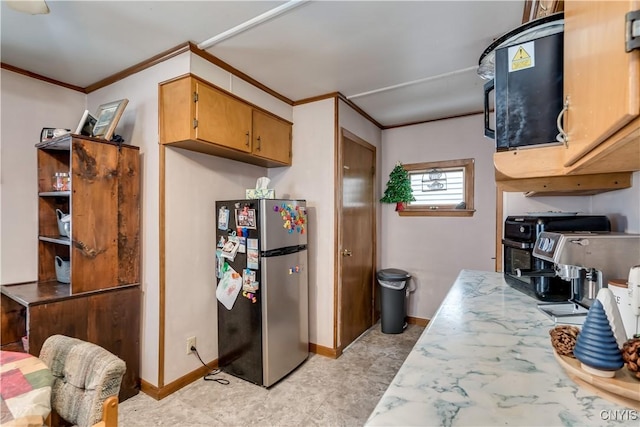
<svg viewBox="0 0 640 427">
<path fill-rule="evenodd" d="M 225 200 L 216 212 L 219 366 L 269 387 L 309 355 L 306 203 Z M 240 290 L 228 286 L 238 276 Z"/>
</svg>

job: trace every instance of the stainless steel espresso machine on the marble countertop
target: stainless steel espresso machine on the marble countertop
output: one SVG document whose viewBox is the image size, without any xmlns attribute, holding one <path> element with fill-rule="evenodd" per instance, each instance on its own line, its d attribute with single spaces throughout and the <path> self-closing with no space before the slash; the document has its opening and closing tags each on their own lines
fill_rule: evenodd
<svg viewBox="0 0 640 427">
<path fill-rule="evenodd" d="M 571 282 L 564 304 L 539 305 L 556 322 L 569 310 L 570 322 L 581 323 L 598 291 L 610 279 L 626 277 L 640 262 L 640 235 L 612 232 L 542 232 L 533 256 L 553 263 L 555 274 Z M 575 319 L 573 318 L 575 317 Z"/>
</svg>

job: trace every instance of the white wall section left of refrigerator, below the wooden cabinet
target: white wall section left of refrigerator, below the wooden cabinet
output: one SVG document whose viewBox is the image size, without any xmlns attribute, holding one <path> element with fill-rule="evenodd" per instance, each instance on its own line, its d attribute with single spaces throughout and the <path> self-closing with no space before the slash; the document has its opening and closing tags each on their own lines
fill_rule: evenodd
<svg viewBox="0 0 640 427">
<path fill-rule="evenodd" d="M 196 337 L 205 362 L 218 358 L 216 200 L 242 199 L 267 169 L 220 157 L 166 150 L 165 384 L 201 366 L 186 355 Z"/>
</svg>

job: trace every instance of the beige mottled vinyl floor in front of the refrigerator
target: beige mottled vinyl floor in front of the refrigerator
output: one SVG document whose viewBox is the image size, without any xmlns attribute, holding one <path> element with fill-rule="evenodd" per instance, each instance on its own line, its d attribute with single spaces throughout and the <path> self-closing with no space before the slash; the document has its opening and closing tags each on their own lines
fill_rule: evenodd
<svg viewBox="0 0 640 427">
<path fill-rule="evenodd" d="M 362 426 L 423 330 L 383 334 L 378 323 L 339 358 L 311 354 L 268 389 L 220 373 L 228 385 L 200 379 L 159 401 L 139 393 L 120 404 L 119 425 Z"/>
</svg>

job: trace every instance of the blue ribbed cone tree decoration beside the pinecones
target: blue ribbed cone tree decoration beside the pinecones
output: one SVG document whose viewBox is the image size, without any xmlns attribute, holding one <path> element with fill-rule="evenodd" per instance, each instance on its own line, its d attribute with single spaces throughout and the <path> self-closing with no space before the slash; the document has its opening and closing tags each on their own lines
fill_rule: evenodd
<svg viewBox="0 0 640 427">
<path fill-rule="evenodd" d="M 573 354 L 582 363 L 582 369 L 601 377 L 613 377 L 624 366 L 609 319 L 598 299 L 587 313 Z"/>
</svg>

